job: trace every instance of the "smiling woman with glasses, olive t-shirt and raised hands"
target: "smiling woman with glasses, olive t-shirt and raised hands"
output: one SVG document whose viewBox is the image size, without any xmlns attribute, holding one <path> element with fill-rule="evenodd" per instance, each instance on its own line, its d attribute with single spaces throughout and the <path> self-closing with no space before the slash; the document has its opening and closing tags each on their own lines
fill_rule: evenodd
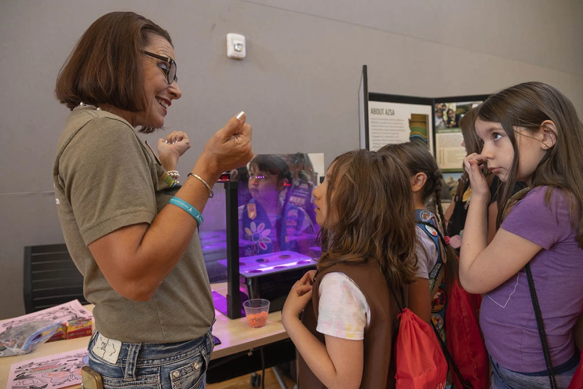
<svg viewBox="0 0 583 389">
<path fill-rule="evenodd" d="M 186 178 L 173 132 L 154 153 L 135 128 L 162 128 L 177 84 L 167 31 L 133 12 L 100 17 L 58 75 L 71 109 L 53 176 L 69 253 L 95 307 L 89 366 L 104 388 L 201 388 L 213 348 L 212 293 L 196 229 L 213 183 L 252 157 L 251 126 L 234 116 Z"/>
</svg>

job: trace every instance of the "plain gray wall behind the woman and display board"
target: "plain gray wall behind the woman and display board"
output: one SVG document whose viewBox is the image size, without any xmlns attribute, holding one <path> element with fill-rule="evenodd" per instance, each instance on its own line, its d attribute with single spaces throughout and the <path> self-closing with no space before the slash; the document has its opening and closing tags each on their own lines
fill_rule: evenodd
<svg viewBox="0 0 583 389">
<path fill-rule="evenodd" d="M 0 319 L 24 313 L 23 246 L 63 242 L 51 168 L 68 111 L 55 77 L 89 24 L 120 9 L 173 36 L 183 97 L 166 125 L 193 140 L 183 173 L 241 109 L 257 153 L 324 152 L 329 163 L 358 147 L 363 64 L 370 91 L 455 96 L 540 80 L 583 114 L 580 0 L 3 0 Z M 244 61 L 226 57 L 229 32 L 247 37 Z"/>
</svg>

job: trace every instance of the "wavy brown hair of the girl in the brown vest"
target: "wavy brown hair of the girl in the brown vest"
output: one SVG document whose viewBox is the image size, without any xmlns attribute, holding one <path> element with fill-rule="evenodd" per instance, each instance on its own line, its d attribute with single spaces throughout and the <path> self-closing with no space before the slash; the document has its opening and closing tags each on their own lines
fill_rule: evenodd
<svg viewBox="0 0 583 389">
<path fill-rule="evenodd" d="M 391 287 L 415 277 L 415 218 L 408 171 L 396 155 L 354 150 L 328 168 L 326 204 L 335 215 L 320 229 L 320 270 L 375 260 Z"/>
</svg>

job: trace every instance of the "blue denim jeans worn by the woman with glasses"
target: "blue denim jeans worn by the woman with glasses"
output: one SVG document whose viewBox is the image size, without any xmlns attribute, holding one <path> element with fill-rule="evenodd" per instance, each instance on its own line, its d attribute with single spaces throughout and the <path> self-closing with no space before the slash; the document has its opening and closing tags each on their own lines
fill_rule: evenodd
<svg viewBox="0 0 583 389">
<path fill-rule="evenodd" d="M 115 362 L 93 351 L 98 339 L 103 341 L 96 331 L 89 341 L 89 367 L 101 374 L 104 389 L 204 389 L 214 346 L 211 331 L 212 327 L 198 339 L 178 343 L 121 342 Z"/>
</svg>

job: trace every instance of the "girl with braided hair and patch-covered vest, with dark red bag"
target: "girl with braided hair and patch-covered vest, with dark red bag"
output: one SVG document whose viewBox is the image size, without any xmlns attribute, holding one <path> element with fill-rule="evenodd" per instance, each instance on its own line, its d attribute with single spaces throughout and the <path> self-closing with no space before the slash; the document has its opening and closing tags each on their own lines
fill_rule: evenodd
<svg viewBox="0 0 583 389">
<path fill-rule="evenodd" d="M 409 284 L 408 307 L 438 335 L 457 388 L 489 387 L 489 361 L 477 322 L 480 296 L 459 283 L 458 257 L 444 235 L 441 206 L 443 176 L 427 146 L 419 142 L 390 144 L 380 153 L 394 154 L 409 169 L 417 232 L 417 271 Z M 427 210 L 434 200 L 437 215 Z M 446 339 L 447 333 L 447 339 Z"/>
</svg>

